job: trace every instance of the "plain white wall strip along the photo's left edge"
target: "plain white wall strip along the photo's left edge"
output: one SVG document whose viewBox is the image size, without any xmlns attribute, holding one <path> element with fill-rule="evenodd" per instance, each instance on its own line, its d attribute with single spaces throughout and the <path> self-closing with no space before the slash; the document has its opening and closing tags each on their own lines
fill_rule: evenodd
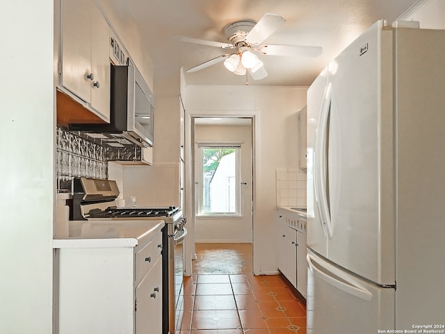
<svg viewBox="0 0 445 334">
<path fill-rule="evenodd" d="M 0 333 L 52 331 L 53 6 L 0 5 Z"/>
</svg>

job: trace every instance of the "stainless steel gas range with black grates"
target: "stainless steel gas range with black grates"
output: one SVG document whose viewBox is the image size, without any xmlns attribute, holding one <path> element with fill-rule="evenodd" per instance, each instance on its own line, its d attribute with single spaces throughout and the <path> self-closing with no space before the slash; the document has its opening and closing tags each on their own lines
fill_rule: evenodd
<svg viewBox="0 0 445 334">
<path fill-rule="evenodd" d="M 75 178 L 70 203 L 71 221 L 102 225 L 113 221 L 163 220 L 162 299 L 163 334 L 175 333 L 184 314 L 184 271 L 182 244 L 187 235 L 187 218 L 179 207 L 118 207 L 118 185 L 113 180 Z"/>
</svg>

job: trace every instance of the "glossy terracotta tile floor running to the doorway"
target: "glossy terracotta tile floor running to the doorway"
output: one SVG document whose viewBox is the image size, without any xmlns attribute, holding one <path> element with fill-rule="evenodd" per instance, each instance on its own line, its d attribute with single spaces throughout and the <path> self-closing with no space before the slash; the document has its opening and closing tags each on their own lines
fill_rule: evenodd
<svg viewBox="0 0 445 334">
<path fill-rule="evenodd" d="M 252 275 L 251 244 L 196 244 L 177 334 L 305 334 L 306 308 L 280 276 Z"/>
</svg>

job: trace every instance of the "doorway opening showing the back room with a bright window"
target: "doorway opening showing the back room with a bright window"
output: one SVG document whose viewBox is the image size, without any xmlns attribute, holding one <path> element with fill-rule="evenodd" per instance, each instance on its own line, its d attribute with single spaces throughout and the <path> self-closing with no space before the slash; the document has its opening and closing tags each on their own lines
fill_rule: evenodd
<svg viewBox="0 0 445 334">
<path fill-rule="evenodd" d="M 195 243 L 253 241 L 253 118 L 192 117 Z"/>
</svg>

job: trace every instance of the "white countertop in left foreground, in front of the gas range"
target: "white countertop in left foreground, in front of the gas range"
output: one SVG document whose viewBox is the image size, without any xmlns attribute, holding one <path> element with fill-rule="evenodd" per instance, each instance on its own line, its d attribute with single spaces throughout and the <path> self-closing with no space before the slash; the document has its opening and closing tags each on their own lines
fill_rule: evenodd
<svg viewBox="0 0 445 334">
<path fill-rule="evenodd" d="M 163 220 L 70 221 L 69 237 L 54 239 L 53 248 L 134 247 L 163 225 Z"/>
</svg>

